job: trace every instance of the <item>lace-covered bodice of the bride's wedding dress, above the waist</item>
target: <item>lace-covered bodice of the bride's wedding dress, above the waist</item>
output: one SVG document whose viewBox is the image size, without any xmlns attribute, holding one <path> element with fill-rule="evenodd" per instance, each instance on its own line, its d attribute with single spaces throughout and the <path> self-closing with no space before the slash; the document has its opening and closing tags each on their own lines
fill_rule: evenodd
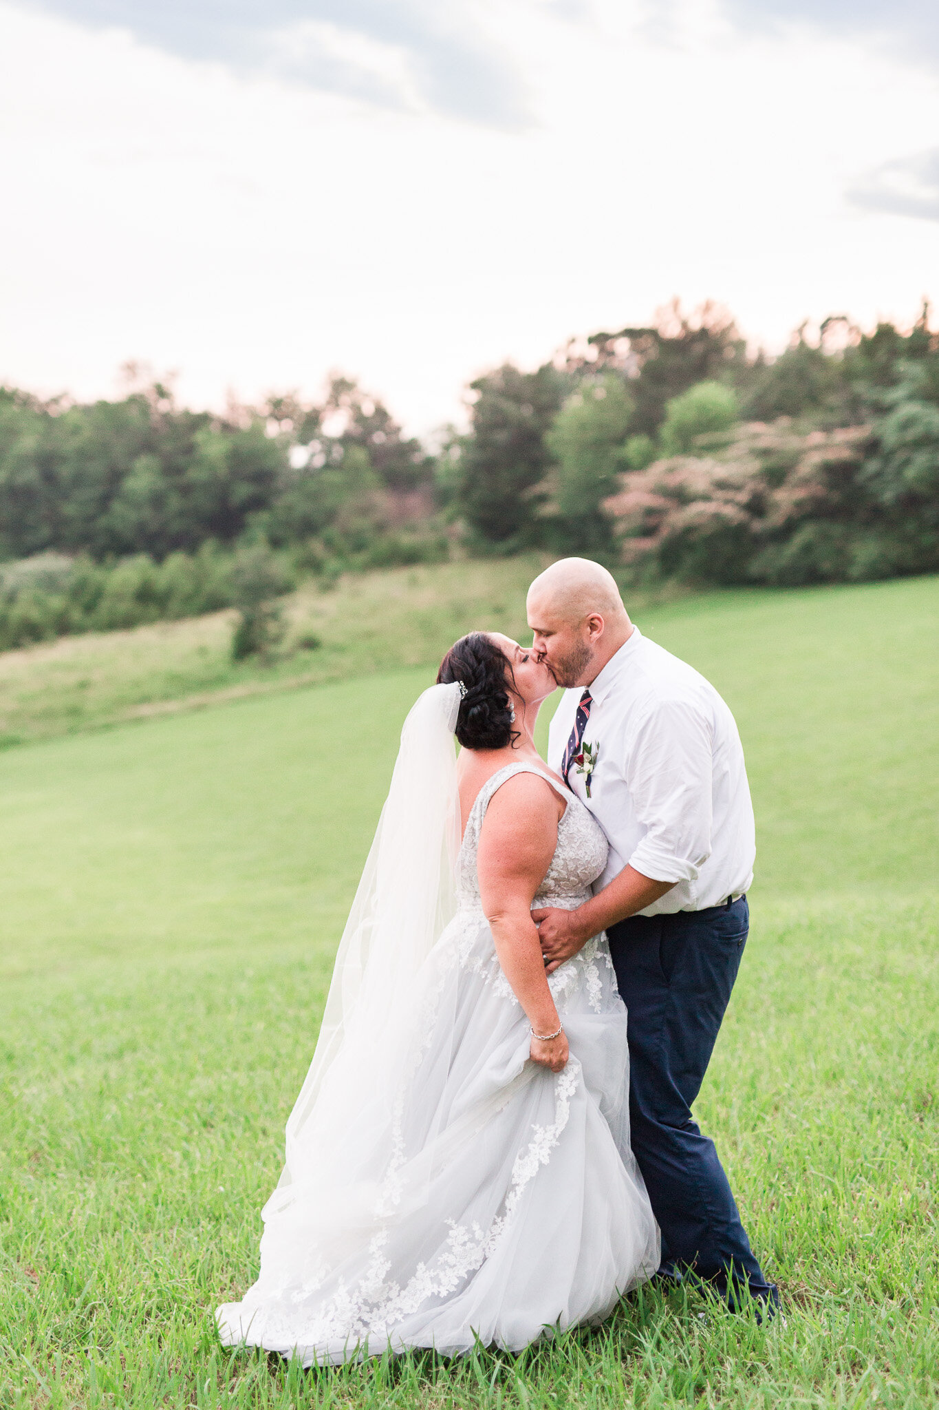
<svg viewBox="0 0 939 1410">
<path fill-rule="evenodd" d="M 512 778 L 514 774 L 536 774 L 539 778 L 545 778 L 556 792 L 562 791 L 557 780 L 552 778 L 546 770 L 524 763 L 507 764 L 483 784 L 466 823 L 456 867 L 458 895 L 462 911 L 479 909 L 480 907 L 476 854 L 479 852 L 483 818 L 486 816 L 486 809 L 493 794 L 508 778 Z M 519 819 L 519 823 L 524 826 L 524 819 Z M 573 911 L 574 907 L 581 905 L 588 898 L 591 883 L 597 880 L 605 866 L 607 838 L 600 823 L 583 805 L 580 798 L 569 794 L 567 808 L 557 823 L 557 846 L 550 859 L 550 866 L 545 873 L 545 880 L 538 887 L 532 907 L 557 905 L 566 911 Z"/>
</svg>

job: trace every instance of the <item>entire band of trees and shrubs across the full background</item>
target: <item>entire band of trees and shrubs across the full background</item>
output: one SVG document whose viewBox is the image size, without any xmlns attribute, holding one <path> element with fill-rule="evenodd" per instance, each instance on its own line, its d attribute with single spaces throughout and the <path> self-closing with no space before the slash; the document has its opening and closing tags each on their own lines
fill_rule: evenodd
<svg viewBox="0 0 939 1410">
<path fill-rule="evenodd" d="M 634 578 L 939 568 L 939 333 L 831 317 L 777 358 L 714 305 L 467 389 L 432 454 L 348 378 L 224 415 L 160 382 L 0 388 L 0 646 L 241 605 L 297 577 L 542 547 Z M 251 602 L 248 602 L 251 599 Z M 262 613 L 263 616 L 263 613 Z"/>
</svg>

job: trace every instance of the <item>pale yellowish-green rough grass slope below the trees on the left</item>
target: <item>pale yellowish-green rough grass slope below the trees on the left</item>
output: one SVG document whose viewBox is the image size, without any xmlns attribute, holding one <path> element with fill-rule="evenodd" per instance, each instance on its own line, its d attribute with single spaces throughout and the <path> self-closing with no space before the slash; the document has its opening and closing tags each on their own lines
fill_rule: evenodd
<svg viewBox="0 0 939 1410">
<path fill-rule="evenodd" d="M 525 591 L 548 561 L 529 554 L 348 574 L 329 588 L 314 580 L 286 599 L 289 632 L 270 663 L 231 660 L 232 612 L 3 651 L 0 749 L 222 699 L 436 666 L 473 627 L 524 632 Z M 677 595 L 676 588 L 666 594 Z M 310 637 L 314 649 L 304 644 Z"/>
</svg>

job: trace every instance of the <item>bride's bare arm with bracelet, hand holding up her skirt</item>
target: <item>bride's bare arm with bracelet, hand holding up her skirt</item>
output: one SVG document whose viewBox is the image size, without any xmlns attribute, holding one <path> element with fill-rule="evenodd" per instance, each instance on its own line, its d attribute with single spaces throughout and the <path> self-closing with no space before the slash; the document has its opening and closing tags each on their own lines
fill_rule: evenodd
<svg viewBox="0 0 939 1410">
<path fill-rule="evenodd" d="M 498 963 L 536 1034 L 560 1028 L 531 915 L 534 895 L 557 846 L 559 807 L 543 778 L 515 774 L 493 794 L 476 857 L 480 900 Z M 531 1056 L 560 1072 L 567 1062 L 566 1035 L 550 1042 L 532 1038 Z"/>
</svg>

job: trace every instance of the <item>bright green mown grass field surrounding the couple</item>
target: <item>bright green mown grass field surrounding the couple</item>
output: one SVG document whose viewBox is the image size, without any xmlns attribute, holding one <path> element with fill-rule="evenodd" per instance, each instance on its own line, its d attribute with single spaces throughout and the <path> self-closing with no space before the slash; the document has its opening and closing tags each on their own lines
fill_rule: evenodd
<svg viewBox="0 0 939 1410">
<path fill-rule="evenodd" d="M 511 625 L 487 587 L 476 611 Z M 748 750 L 753 932 L 697 1114 L 787 1324 L 652 1293 L 598 1335 L 455 1368 L 304 1376 L 217 1348 L 418 640 L 407 670 L 0 756 L 4 1410 L 939 1404 L 939 580 L 636 616 Z"/>
</svg>

